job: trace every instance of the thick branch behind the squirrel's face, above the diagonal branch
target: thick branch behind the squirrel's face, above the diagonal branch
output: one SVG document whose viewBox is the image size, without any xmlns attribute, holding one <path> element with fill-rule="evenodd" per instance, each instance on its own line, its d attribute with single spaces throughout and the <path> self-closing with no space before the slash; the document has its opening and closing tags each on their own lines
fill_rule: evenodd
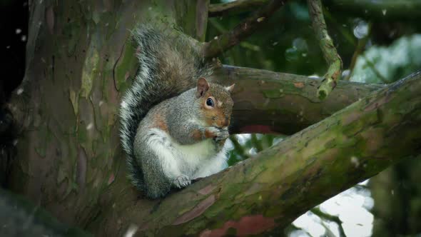
<svg viewBox="0 0 421 237">
<path fill-rule="evenodd" d="M 231 133 L 293 134 L 383 87 L 338 81 L 325 100 L 319 79 L 224 65 L 215 71 L 220 84 L 235 83 Z"/>
</svg>

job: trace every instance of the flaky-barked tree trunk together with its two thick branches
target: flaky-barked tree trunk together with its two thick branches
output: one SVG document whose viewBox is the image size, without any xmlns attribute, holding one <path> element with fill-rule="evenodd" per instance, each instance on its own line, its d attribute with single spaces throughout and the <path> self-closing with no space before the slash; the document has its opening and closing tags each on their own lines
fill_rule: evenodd
<svg viewBox="0 0 421 237">
<path fill-rule="evenodd" d="M 224 67 L 220 80 L 239 84 L 236 132 L 290 134 L 357 102 L 168 198 L 139 199 L 118 139 L 119 101 L 137 68 L 129 30 L 166 22 L 203 40 L 207 8 L 204 0 L 32 1 L 26 76 L 10 103 L 21 128 L 11 189 L 98 236 L 121 236 L 131 223 L 171 236 L 261 233 L 419 153 L 419 79 L 362 101 L 382 86 L 344 82 L 318 101 L 317 80 Z"/>
</svg>

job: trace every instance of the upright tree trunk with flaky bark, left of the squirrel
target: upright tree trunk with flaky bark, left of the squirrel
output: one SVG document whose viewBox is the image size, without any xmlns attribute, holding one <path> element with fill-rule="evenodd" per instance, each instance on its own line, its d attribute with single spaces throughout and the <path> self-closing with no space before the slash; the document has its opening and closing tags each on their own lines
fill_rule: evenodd
<svg viewBox="0 0 421 237">
<path fill-rule="evenodd" d="M 136 73 L 130 29 L 179 25 L 203 39 L 207 1 L 32 1 L 21 128 L 9 186 L 60 220 L 86 226 L 123 169 L 118 106 Z M 125 178 L 125 175 L 118 178 Z"/>
</svg>

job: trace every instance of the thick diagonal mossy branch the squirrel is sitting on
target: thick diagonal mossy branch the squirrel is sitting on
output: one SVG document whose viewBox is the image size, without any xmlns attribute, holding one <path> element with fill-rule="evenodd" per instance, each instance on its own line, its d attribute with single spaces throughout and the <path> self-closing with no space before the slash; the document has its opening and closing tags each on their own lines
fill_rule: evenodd
<svg viewBox="0 0 421 237">
<path fill-rule="evenodd" d="M 130 223 L 139 235 L 155 236 L 278 231 L 327 198 L 420 154 L 420 90 L 421 73 L 412 74 L 158 201 L 137 200 L 120 178 L 103 196 L 95 232 L 121 236 Z"/>
</svg>

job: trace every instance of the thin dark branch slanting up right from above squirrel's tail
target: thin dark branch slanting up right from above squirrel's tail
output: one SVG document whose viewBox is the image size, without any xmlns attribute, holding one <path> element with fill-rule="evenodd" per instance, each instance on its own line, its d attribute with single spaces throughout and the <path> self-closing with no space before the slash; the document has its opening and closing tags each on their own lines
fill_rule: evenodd
<svg viewBox="0 0 421 237">
<path fill-rule="evenodd" d="M 264 22 L 268 21 L 276 10 L 283 6 L 287 0 L 272 0 L 266 6 L 256 11 L 252 16 L 245 19 L 242 23 L 235 26 L 231 31 L 228 31 L 215 39 L 203 45 L 203 54 L 206 58 L 214 58 L 223 51 L 230 49 L 232 46 L 238 44 L 250 34 L 253 34 Z"/>
</svg>

